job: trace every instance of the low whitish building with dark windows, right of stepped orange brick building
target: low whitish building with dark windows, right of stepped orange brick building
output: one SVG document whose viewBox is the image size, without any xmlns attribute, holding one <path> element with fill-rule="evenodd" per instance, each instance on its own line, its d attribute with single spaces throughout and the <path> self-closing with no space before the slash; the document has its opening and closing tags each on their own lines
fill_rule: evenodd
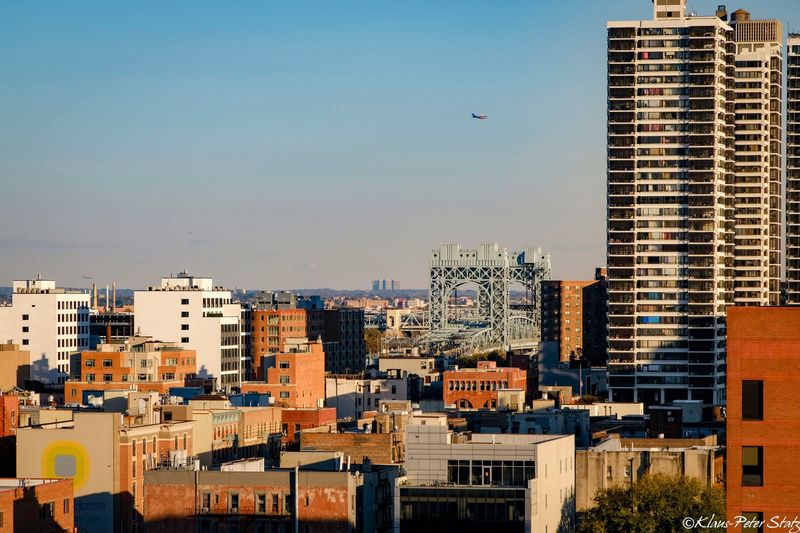
<svg viewBox="0 0 800 533">
<path fill-rule="evenodd" d="M 325 407 L 338 419 L 358 419 L 385 400 L 408 400 L 408 378 L 337 376 L 325 378 Z"/>
</svg>

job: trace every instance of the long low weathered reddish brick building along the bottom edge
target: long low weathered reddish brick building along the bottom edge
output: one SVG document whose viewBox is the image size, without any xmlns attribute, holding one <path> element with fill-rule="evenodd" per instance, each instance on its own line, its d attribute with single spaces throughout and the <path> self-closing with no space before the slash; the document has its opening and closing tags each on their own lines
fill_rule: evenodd
<svg viewBox="0 0 800 533">
<path fill-rule="evenodd" d="M 350 472 L 148 472 L 149 533 L 291 531 L 349 533 L 358 522 L 362 476 Z M 372 509 L 369 509 L 372 512 Z M 213 528 L 213 529 L 212 529 Z"/>
</svg>

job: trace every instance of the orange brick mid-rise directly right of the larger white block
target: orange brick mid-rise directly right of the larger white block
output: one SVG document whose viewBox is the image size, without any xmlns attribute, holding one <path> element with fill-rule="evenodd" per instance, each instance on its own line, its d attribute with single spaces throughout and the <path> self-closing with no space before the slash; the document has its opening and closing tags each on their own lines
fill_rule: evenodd
<svg viewBox="0 0 800 533">
<path fill-rule="evenodd" d="M 251 321 L 253 376 L 265 379 L 261 358 L 282 352 L 287 339 L 306 337 L 306 312 L 303 309 L 253 309 Z"/>
</svg>

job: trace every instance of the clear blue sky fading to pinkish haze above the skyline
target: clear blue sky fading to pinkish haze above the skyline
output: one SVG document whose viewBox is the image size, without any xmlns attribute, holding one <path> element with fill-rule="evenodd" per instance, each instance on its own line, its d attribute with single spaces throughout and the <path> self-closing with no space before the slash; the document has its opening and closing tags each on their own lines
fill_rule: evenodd
<svg viewBox="0 0 800 533">
<path fill-rule="evenodd" d="M 800 28 L 798 0 L 739 7 Z M 138 288 L 188 268 L 230 287 L 425 287 L 443 241 L 541 244 L 555 277 L 591 276 L 605 23 L 651 10 L 5 2 L 0 285 Z"/>
</svg>

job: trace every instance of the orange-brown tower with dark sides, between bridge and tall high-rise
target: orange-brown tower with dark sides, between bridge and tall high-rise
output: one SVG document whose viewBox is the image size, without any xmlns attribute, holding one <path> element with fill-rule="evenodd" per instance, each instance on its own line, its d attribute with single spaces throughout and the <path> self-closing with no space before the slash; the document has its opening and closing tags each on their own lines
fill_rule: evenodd
<svg viewBox="0 0 800 533">
<path fill-rule="evenodd" d="M 605 269 L 595 279 L 542 281 L 542 341 L 557 342 L 561 361 L 585 358 L 606 363 L 608 282 Z"/>
</svg>

